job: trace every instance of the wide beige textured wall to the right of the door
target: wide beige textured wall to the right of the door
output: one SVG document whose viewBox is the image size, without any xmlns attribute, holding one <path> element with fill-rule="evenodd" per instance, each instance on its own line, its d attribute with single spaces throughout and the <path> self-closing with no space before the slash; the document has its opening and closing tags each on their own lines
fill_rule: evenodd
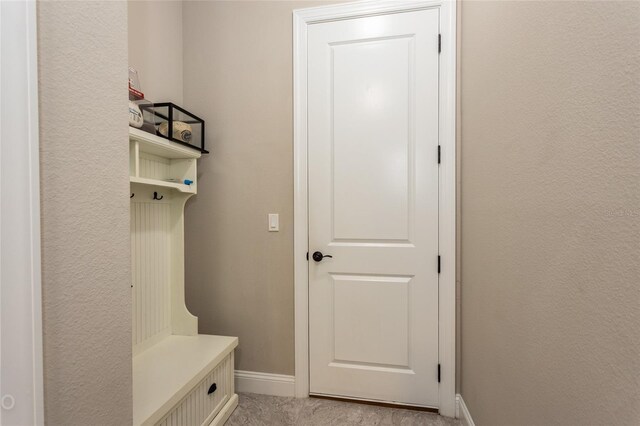
<svg viewBox="0 0 640 426">
<path fill-rule="evenodd" d="M 462 396 L 640 424 L 640 3 L 462 7 Z"/>
</svg>

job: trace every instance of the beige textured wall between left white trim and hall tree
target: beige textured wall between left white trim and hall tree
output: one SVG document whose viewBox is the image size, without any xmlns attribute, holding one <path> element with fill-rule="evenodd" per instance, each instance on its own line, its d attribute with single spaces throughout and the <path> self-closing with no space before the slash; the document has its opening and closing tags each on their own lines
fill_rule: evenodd
<svg viewBox="0 0 640 426">
<path fill-rule="evenodd" d="M 45 421 L 132 421 L 127 6 L 40 2 Z"/>
</svg>

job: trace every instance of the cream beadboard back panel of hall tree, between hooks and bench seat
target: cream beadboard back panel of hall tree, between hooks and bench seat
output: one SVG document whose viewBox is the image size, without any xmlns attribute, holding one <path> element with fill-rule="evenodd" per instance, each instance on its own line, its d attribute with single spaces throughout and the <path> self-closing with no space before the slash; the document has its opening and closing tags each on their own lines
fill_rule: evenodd
<svg viewBox="0 0 640 426">
<path fill-rule="evenodd" d="M 171 204 L 131 202 L 133 346 L 171 332 Z"/>
</svg>

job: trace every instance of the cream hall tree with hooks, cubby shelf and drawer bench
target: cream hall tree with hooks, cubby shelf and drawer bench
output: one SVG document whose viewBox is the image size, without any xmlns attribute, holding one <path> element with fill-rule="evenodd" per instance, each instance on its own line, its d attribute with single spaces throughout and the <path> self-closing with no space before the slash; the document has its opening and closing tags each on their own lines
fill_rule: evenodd
<svg viewBox="0 0 640 426">
<path fill-rule="evenodd" d="M 134 425 L 221 425 L 238 404 L 238 339 L 199 335 L 184 297 L 184 205 L 201 153 L 134 128 L 129 141 Z"/>
</svg>

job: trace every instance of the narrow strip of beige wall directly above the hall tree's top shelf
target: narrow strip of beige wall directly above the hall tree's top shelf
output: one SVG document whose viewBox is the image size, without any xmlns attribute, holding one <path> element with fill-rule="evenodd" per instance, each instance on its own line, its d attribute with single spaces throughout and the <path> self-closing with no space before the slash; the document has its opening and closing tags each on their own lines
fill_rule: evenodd
<svg viewBox="0 0 640 426">
<path fill-rule="evenodd" d="M 182 105 L 182 2 L 129 0 L 129 66 L 145 97 Z"/>
</svg>

